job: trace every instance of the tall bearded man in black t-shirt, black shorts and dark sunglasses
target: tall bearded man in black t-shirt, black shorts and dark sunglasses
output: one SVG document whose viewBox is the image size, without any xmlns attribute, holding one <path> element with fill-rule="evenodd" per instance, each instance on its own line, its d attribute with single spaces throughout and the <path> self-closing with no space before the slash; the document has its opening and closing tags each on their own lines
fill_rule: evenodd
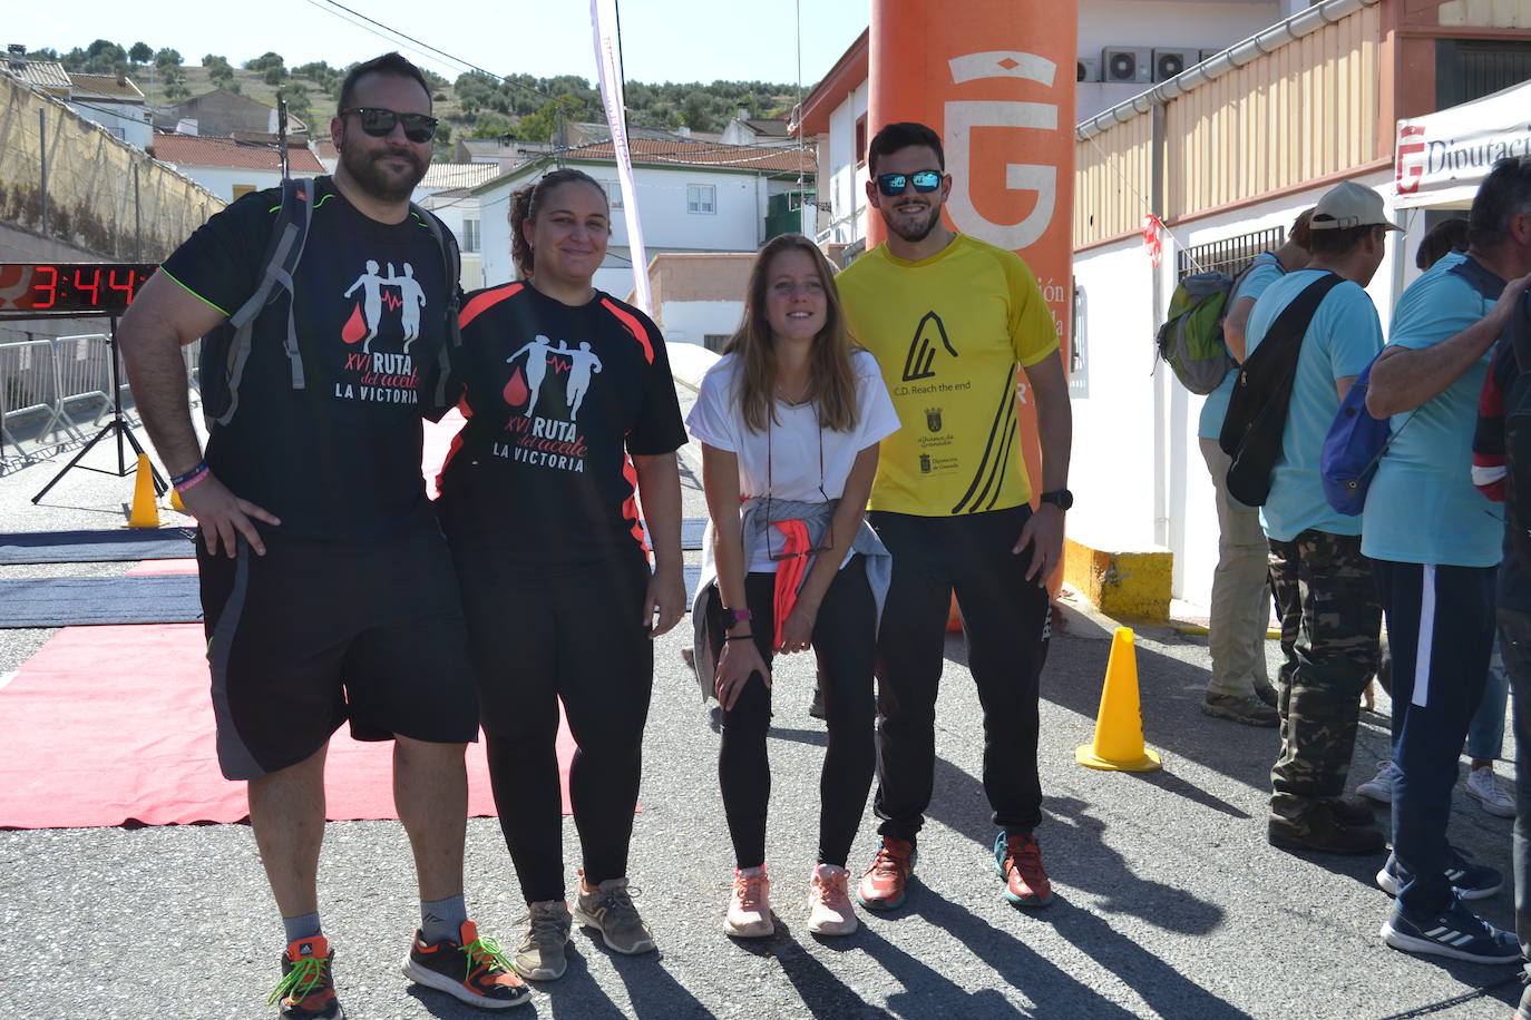
<svg viewBox="0 0 1531 1020">
<path fill-rule="evenodd" d="M 409 203 L 435 127 L 424 76 L 398 54 L 346 75 L 331 121 L 340 164 L 334 177 L 300 182 L 312 216 L 291 294 L 273 292 L 256 318 L 237 413 L 210 425 L 205 454 L 181 346 L 257 291 L 282 190 L 199 228 L 119 330 L 144 424 L 201 528 L 219 763 L 248 783 L 282 913 L 286 951 L 268 1000 L 282 1017 L 344 1015 L 317 870 L 325 755 L 346 720 L 358 740 L 393 742 L 393 798 L 421 899 L 404 973 L 482 1008 L 530 994 L 462 899 L 464 749 L 478 707 L 456 578 L 421 480 L 416 395 L 416 367 L 447 341 L 458 281 L 436 237 L 446 228 Z M 407 266 L 416 291 L 401 294 L 378 266 L 389 277 Z M 378 300 L 355 286 L 366 274 L 378 277 Z"/>
</svg>

